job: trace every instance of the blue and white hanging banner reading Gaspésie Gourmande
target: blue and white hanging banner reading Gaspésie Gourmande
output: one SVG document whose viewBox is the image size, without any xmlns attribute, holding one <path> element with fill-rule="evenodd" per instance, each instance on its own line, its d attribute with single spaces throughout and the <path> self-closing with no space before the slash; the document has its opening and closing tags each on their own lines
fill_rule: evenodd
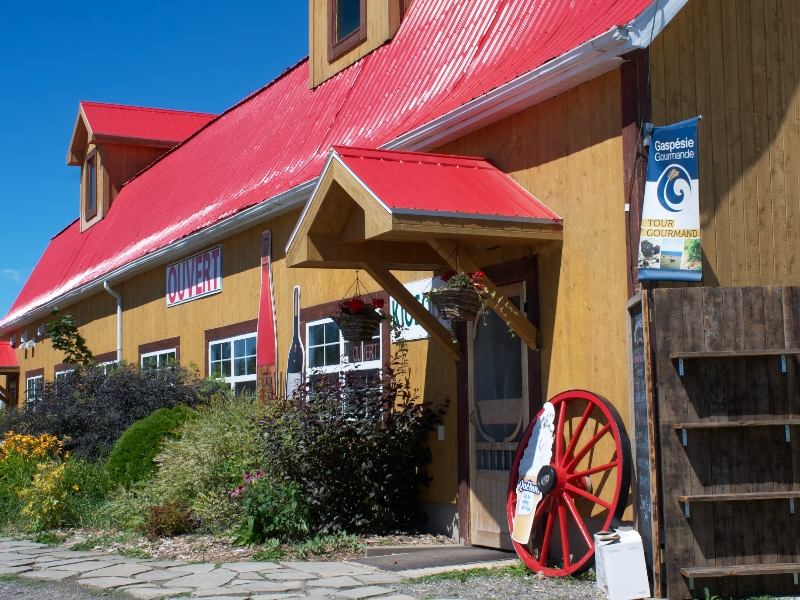
<svg viewBox="0 0 800 600">
<path fill-rule="evenodd" d="M 656 127 L 639 239 L 639 280 L 700 281 L 699 117 Z"/>
</svg>

